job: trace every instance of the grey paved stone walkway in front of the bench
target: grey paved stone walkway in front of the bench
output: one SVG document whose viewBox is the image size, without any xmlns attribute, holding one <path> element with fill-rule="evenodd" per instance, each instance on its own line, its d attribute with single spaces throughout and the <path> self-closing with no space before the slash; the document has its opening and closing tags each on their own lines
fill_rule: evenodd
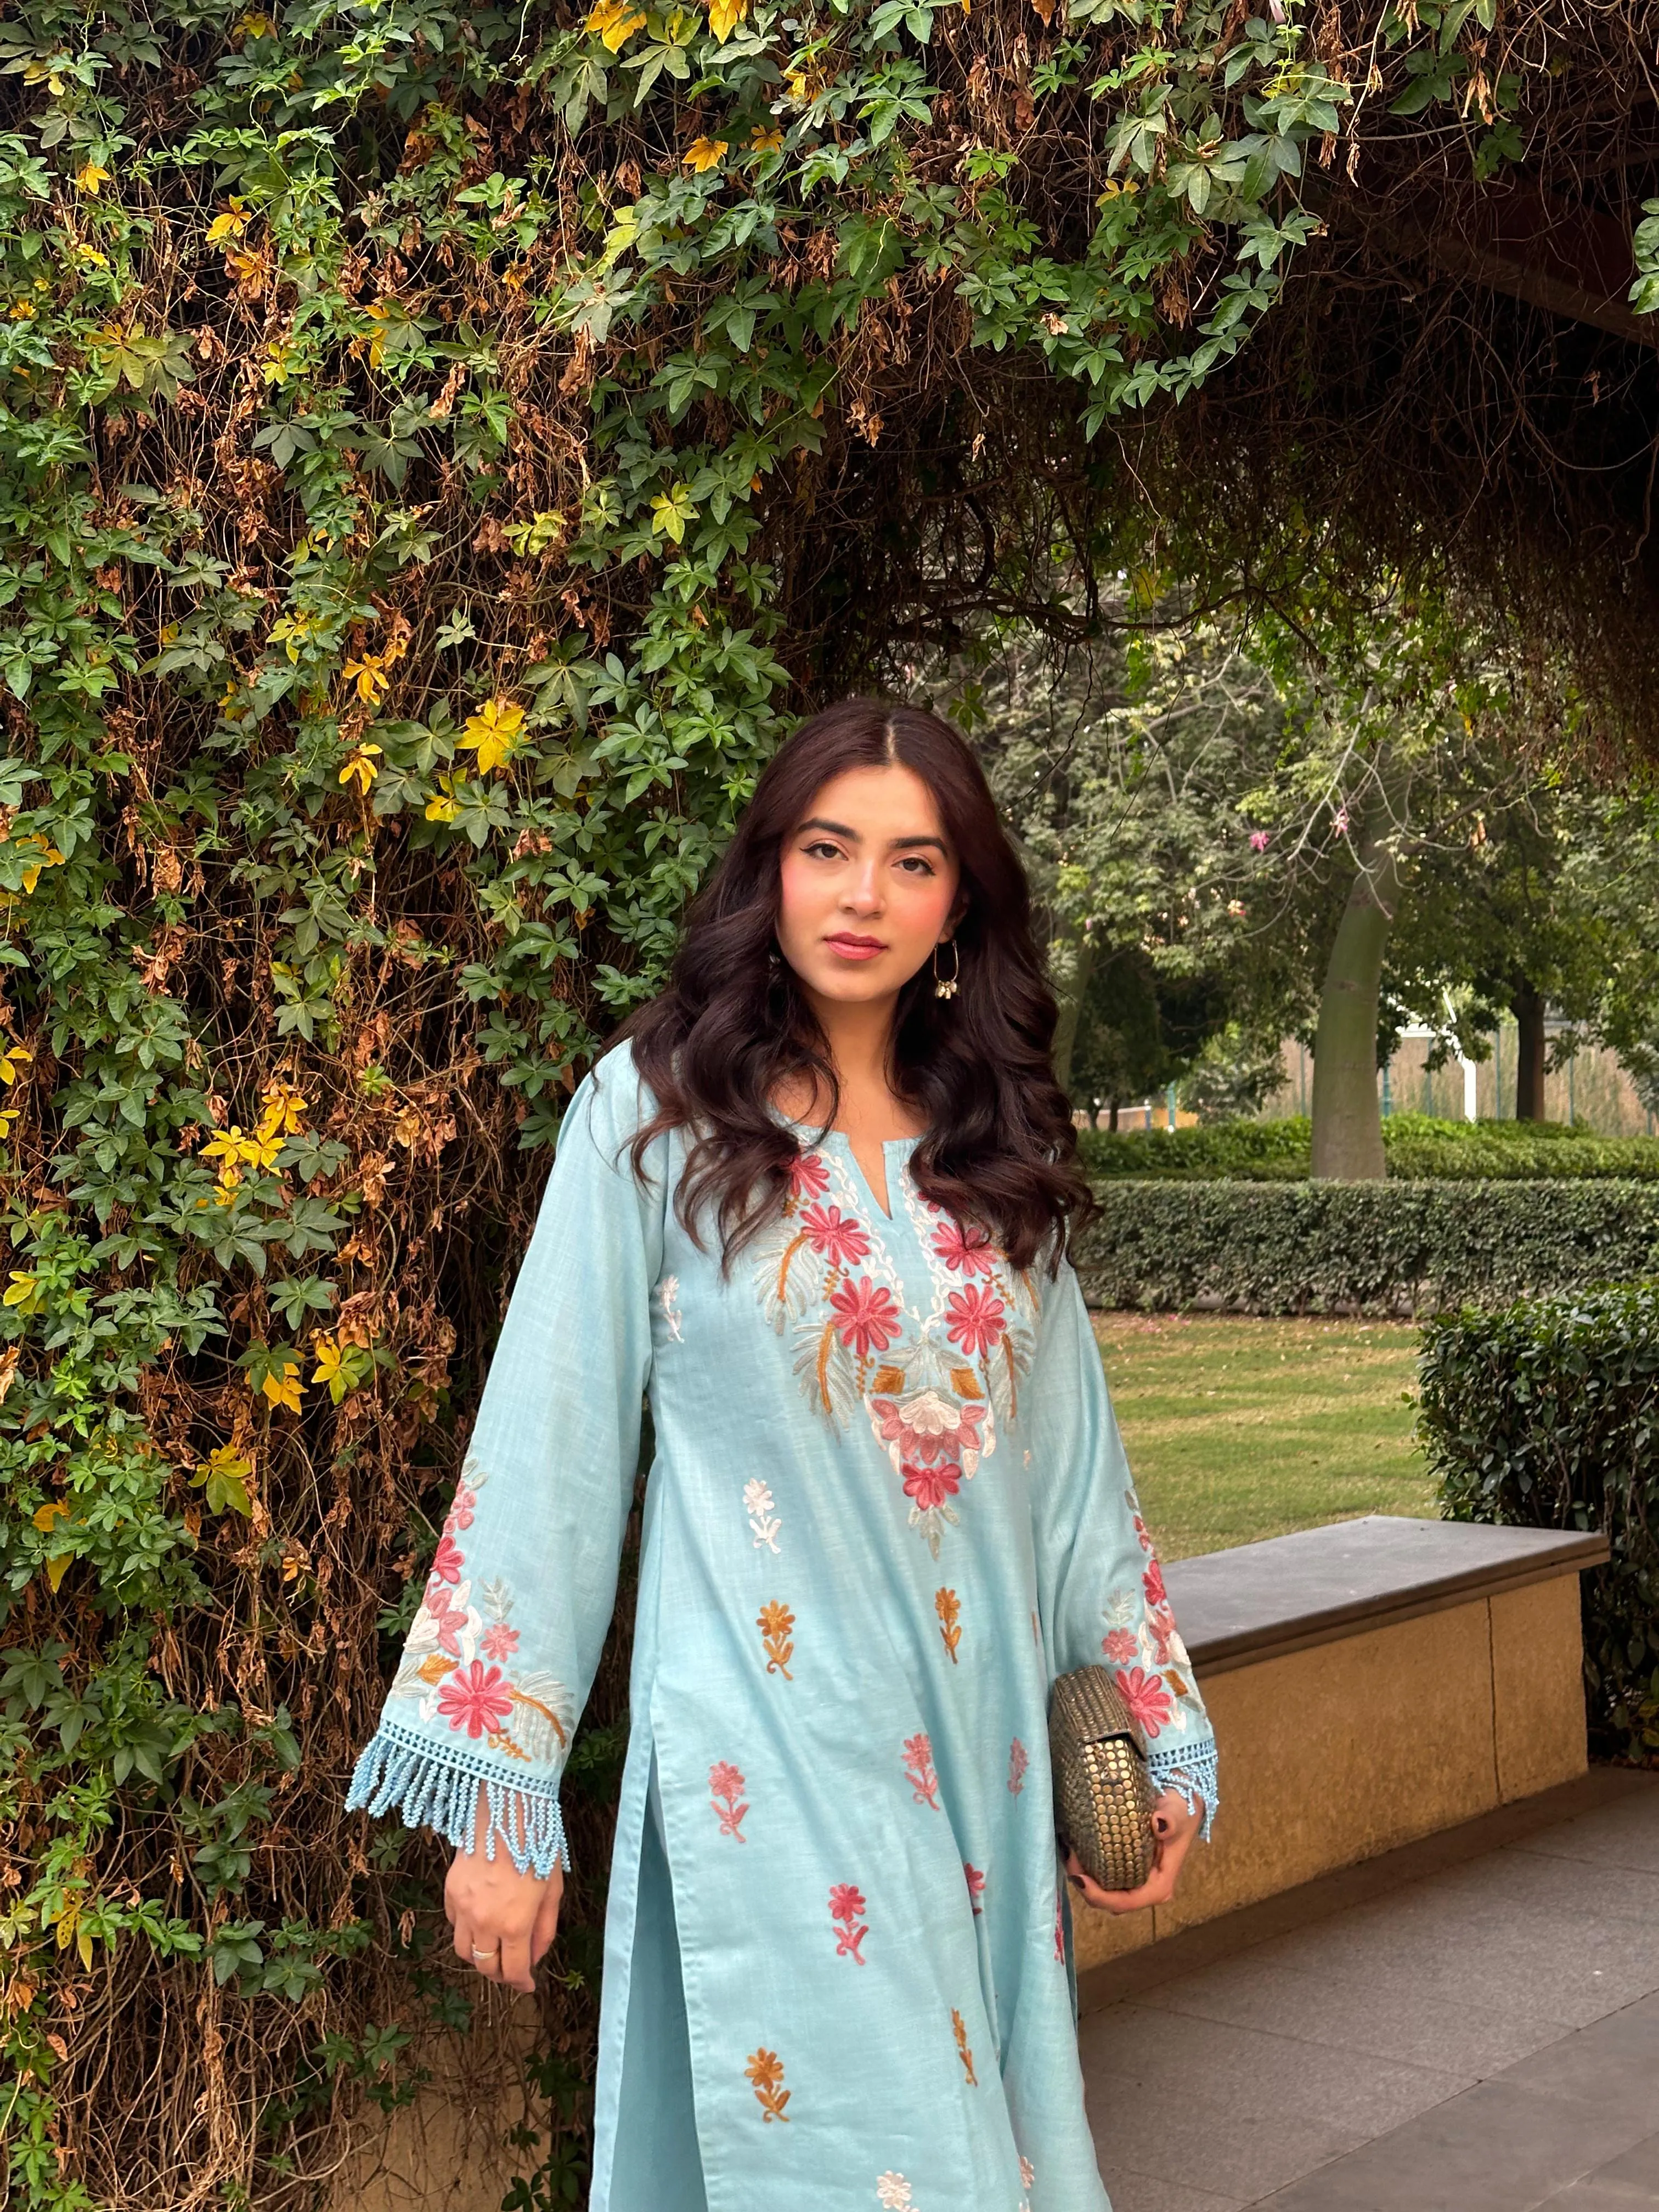
<svg viewBox="0 0 1659 2212">
<path fill-rule="evenodd" d="M 1079 2004 L 1115 2212 L 1659 2208 L 1659 1774 L 1190 1929 Z"/>
</svg>

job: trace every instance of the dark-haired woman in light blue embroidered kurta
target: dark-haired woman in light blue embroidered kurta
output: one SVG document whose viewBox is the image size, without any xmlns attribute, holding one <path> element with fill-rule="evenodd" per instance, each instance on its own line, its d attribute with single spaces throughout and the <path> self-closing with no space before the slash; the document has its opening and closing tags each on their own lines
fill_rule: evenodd
<svg viewBox="0 0 1659 2212">
<path fill-rule="evenodd" d="M 1108 1663 L 1164 1902 L 1214 1743 L 1066 1228 L 1055 1006 L 984 776 L 847 701 L 761 776 L 672 984 L 577 1086 L 352 1805 L 460 1849 L 533 1986 L 641 1400 L 595 2212 L 1104 2212 L 1046 1701 Z"/>
</svg>

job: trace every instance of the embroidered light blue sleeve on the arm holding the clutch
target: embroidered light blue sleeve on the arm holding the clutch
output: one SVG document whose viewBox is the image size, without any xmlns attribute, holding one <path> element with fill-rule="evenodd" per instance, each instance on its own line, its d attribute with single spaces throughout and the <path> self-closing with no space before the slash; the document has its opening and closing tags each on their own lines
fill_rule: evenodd
<svg viewBox="0 0 1659 2212">
<path fill-rule="evenodd" d="M 1042 1276 L 1033 1405 L 1037 1595 L 1051 1674 L 1106 1666 L 1146 1730 L 1157 1790 L 1217 1807 L 1217 1752 L 1117 1433 L 1071 1261 Z"/>
</svg>

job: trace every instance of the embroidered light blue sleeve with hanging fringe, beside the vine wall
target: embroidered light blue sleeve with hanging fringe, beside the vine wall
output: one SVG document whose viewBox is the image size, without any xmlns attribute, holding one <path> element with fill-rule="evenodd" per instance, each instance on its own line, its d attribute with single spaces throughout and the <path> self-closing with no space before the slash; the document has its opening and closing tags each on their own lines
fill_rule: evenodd
<svg viewBox="0 0 1659 2212">
<path fill-rule="evenodd" d="M 403 1812 L 520 1871 L 568 1867 L 560 1774 L 599 1663 L 650 1380 L 666 1139 L 622 1046 L 577 1086 L 420 1610 L 349 1809 Z"/>
</svg>

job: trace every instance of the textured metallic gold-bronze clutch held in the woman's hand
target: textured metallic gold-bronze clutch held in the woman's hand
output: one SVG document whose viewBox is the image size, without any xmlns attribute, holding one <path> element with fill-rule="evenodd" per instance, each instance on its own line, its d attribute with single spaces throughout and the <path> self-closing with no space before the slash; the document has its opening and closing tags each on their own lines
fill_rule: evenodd
<svg viewBox="0 0 1659 2212">
<path fill-rule="evenodd" d="M 1053 1686 L 1048 1759 L 1062 1849 L 1102 1889 L 1139 1889 L 1157 1847 L 1152 1776 L 1146 1736 L 1104 1666 L 1079 1666 Z"/>
</svg>

